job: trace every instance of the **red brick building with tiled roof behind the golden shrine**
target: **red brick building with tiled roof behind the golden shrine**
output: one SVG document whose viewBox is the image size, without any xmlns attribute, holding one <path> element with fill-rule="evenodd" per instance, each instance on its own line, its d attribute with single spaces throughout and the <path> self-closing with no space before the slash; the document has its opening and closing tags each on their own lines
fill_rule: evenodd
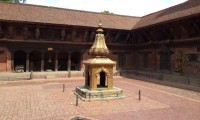
<svg viewBox="0 0 200 120">
<path fill-rule="evenodd" d="M 143 17 L 0 2 L 0 72 L 82 70 L 100 21 L 117 69 L 199 76 L 197 0 Z"/>
</svg>

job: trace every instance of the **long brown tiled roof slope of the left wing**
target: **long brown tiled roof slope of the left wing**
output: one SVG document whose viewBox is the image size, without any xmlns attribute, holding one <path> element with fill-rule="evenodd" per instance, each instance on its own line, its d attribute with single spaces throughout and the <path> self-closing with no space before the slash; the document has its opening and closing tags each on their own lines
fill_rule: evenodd
<svg viewBox="0 0 200 120">
<path fill-rule="evenodd" d="M 104 28 L 130 30 L 140 18 L 0 2 L 0 20 L 88 27 L 97 27 L 101 21 Z"/>
</svg>

